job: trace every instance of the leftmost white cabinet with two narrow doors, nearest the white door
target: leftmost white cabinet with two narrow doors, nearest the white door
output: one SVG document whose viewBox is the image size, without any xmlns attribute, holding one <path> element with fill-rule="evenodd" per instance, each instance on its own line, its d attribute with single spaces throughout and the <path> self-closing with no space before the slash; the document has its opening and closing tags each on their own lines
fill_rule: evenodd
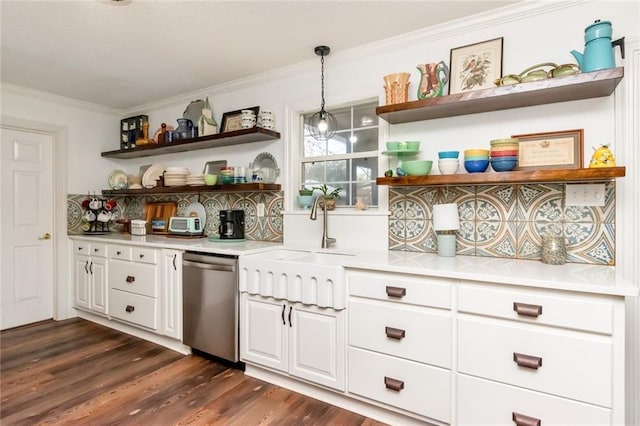
<svg viewBox="0 0 640 426">
<path fill-rule="evenodd" d="M 106 315 L 107 245 L 76 241 L 73 245 L 74 305 Z"/>
</svg>

